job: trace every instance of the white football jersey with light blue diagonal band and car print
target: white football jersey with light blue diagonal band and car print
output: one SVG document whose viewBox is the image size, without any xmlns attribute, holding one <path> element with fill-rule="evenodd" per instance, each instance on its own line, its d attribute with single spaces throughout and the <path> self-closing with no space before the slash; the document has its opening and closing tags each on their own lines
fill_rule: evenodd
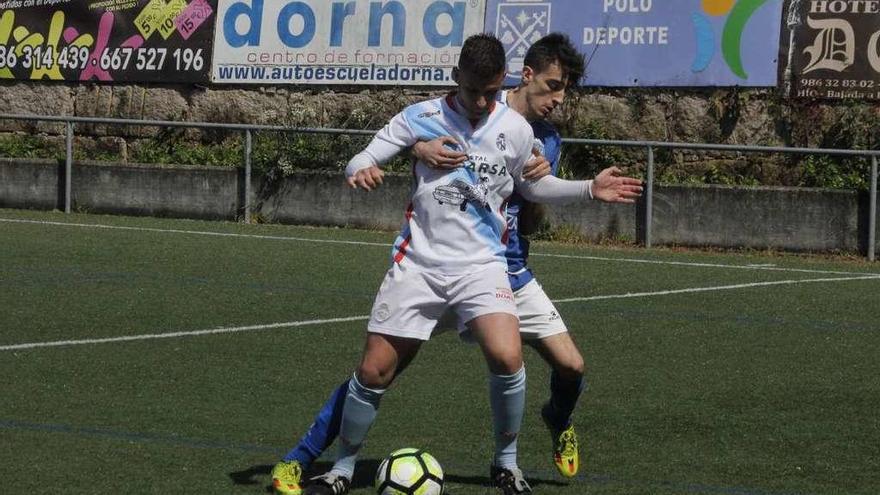
<svg viewBox="0 0 880 495">
<path fill-rule="evenodd" d="M 392 260 L 446 274 L 487 263 L 506 263 L 507 201 L 522 179 L 534 135 L 507 105 L 473 125 L 451 96 L 405 108 L 352 159 L 346 172 L 381 165 L 418 141 L 452 136 L 468 155 L 465 166 L 434 169 L 417 161 L 413 190 Z"/>
</svg>

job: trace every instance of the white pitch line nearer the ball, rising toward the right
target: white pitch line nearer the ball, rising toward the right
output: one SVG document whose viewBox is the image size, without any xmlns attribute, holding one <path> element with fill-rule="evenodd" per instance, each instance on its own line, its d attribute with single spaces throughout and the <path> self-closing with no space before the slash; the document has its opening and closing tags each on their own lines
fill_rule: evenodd
<svg viewBox="0 0 880 495">
<path fill-rule="evenodd" d="M 814 278 L 814 279 L 805 279 L 805 280 L 777 280 L 774 282 L 756 282 L 750 284 L 736 284 L 736 285 L 721 285 L 716 287 L 693 287 L 689 289 L 676 289 L 676 290 L 663 290 L 657 292 L 636 292 L 636 293 L 627 293 L 627 294 L 609 294 L 602 296 L 589 296 L 589 297 L 572 297 L 567 299 L 555 299 L 554 303 L 570 303 L 570 302 L 584 302 L 584 301 L 600 301 L 607 299 L 629 299 L 635 297 L 651 297 L 651 296 L 668 296 L 672 294 L 687 294 L 693 292 L 711 292 L 718 290 L 734 290 L 734 289 L 750 289 L 755 287 L 768 287 L 773 285 L 797 285 L 797 284 L 806 284 L 806 283 L 830 283 L 830 282 L 848 282 L 853 280 L 880 280 L 880 276 L 871 275 L 871 276 L 860 276 L 860 277 L 846 277 L 846 278 Z M 171 332 L 171 333 L 156 333 L 156 334 L 143 334 L 143 335 L 128 335 L 123 337 L 108 337 L 103 339 L 83 339 L 83 340 L 58 340 L 53 342 L 33 342 L 27 344 L 13 344 L 13 345 L 4 345 L 0 346 L 0 352 L 3 351 L 18 351 L 18 350 L 27 350 L 27 349 L 35 349 L 38 347 L 68 347 L 74 345 L 88 345 L 88 344 L 108 344 L 113 342 L 131 342 L 137 340 L 154 340 L 154 339 L 170 339 L 177 337 L 195 337 L 200 335 L 216 335 L 216 334 L 224 334 L 224 333 L 238 333 L 238 332 L 249 332 L 249 331 L 257 331 L 257 330 L 272 330 L 277 328 L 292 328 L 292 327 L 305 327 L 312 325 L 325 325 L 328 323 L 342 323 L 342 322 L 350 322 L 350 321 L 364 321 L 368 320 L 369 316 L 349 316 L 345 318 L 330 318 L 326 320 L 306 320 L 306 321 L 291 321 L 286 323 L 270 323 L 266 325 L 250 325 L 245 327 L 227 327 L 227 328 L 212 328 L 209 330 L 194 330 L 189 332 Z"/>
</svg>

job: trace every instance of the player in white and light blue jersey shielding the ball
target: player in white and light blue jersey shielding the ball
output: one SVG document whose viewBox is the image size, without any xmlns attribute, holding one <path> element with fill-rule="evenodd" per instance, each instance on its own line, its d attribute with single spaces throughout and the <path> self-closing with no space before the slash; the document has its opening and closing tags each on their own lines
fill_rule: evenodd
<svg viewBox="0 0 880 495">
<path fill-rule="evenodd" d="M 453 309 L 467 323 L 489 368 L 495 455 L 491 474 L 505 494 L 531 493 L 516 463 L 525 401 L 525 369 L 516 305 L 507 279 L 505 207 L 514 184 L 528 199 L 572 202 L 590 197 L 586 181 L 545 176 L 522 179 L 534 134 L 525 119 L 496 105 L 504 80 L 504 48 L 475 35 L 453 70 L 457 91 L 396 115 L 349 163 L 352 187 L 381 184 L 377 164 L 419 141 L 453 136 L 474 167 L 453 170 L 414 164 L 412 200 L 392 249 L 392 266 L 368 323 L 361 363 L 349 382 L 333 468 L 312 479 L 306 494 L 347 493 L 357 453 L 396 370 L 430 338 L 441 314 Z"/>
</svg>

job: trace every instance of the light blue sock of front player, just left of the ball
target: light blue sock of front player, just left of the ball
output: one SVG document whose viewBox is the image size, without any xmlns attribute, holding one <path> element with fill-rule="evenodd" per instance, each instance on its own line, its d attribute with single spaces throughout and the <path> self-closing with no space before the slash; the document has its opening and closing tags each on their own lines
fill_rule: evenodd
<svg viewBox="0 0 880 495">
<path fill-rule="evenodd" d="M 367 432 L 376 420 L 379 401 L 385 390 L 370 389 L 361 385 L 357 376 L 348 383 L 345 406 L 342 409 L 342 422 L 339 428 L 339 454 L 333 471 L 349 480 L 354 476 L 354 463 L 358 451 L 367 437 Z"/>
</svg>

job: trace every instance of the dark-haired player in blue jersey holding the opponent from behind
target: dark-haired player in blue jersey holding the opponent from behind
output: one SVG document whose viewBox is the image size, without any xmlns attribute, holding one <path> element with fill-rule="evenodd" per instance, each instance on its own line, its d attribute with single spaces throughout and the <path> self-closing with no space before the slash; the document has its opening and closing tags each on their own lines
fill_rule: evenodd
<svg viewBox="0 0 880 495">
<path fill-rule="evenodd" d="M 532 169 L 525 174 L 540 176 L 551 169 L 555 173 L 558 166 L 560 139 L 555 129 L 542 119 L 561 104 L 565 90 L 576 84 L 583 72 L 583 59 L 564 36 L 551 35 L 537 42 L 525 59 L 522 84 L 510 92 L 502 94 L 499 103 L 509 105 L 527 120 L 543 148 L 550 157 L 534 160 Z M 414 154 L 427 166 L 435 169 L 454 169 L 467 160 L 467 154 L 450 151 L 444 145 L 460 146 L 459 140 L 451 136 L 438 136 L 429 142 L 419 142 Z M 460 148 L 459 148 L 460 149 Z M 381 176 L 377 178 L 381 180 Z M 378 181 L 377 181 L 378 182 Z M 377 185 L 376 183 L 372 185 Z M 641 191 L 640 182 L 619 177 L 616 169 L 603 171 L 591 184 L 592 194 L 606 201 L 632 202 Z M 554 437 L 554 457 L 557 467 L 565 476 L 573 476 L 577 471 L 577 439 L 571 426 L 571 414 L 583 388 L 583 358 L 569 337 L 549 298 L 534 281 L 531 271 L 526 267 L 528 241 L 519 235 L 519 221 L 525 200 L 514 194 L 507 209 L 508 241 L 506 261 L 510 284 L 516 294 L 516 311 L 521 324 L 521 335 L 526 342 L 534 345 L 539 353 L 553 367 L 551 379 L 551 400 L 543 408 L 543 416 Z M 409 214 L 409 213 L 408 213 Z M 396 243 L 398 254 L 403 242 Z M 395 257 L 397 258 L 397 256 Z M 459 316 L 460 327 L 466 329 Z M 395 370 L 399 372 L 402 367 Z M 298 494 L 301 492 L 302 469 L 321 455 L 339 434 L 342 412 L 352 387 L 345 382 L 334 391 L 315 419 L 309 432 L 273 470 L 273 485 L 278 493 Z M 504 493 L 529 493 L 530 488 L 521 473 L 513 466 L 500 469 L 493 464 L 493 482 Z M 326 478 L 326 477 L 325 477 Z M 318 479 L 316 493 L 338 493 L 347 490 L 345 482 L 334 487 L 336 477 Z M 338 490 L 337 490 L 338 489 Z M 308 492 L 308 490 L 307 490 Z"/>
</svg>

